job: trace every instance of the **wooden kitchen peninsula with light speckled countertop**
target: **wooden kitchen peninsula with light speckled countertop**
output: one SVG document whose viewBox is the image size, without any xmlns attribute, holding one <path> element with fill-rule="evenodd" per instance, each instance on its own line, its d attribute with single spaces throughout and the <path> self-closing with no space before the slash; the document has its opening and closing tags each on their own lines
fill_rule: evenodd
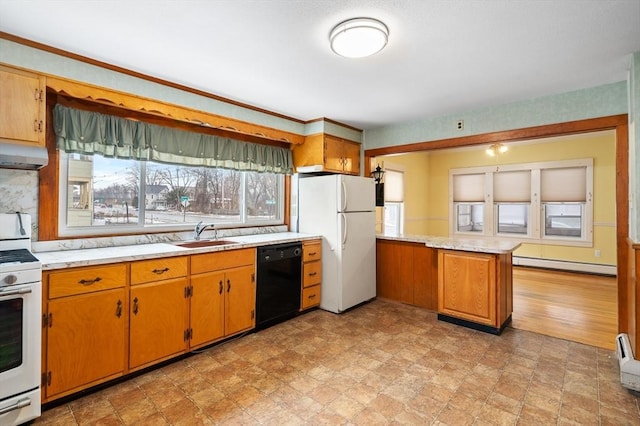
<svg viewBox="0 0 640 426">
<path fill-rule="evenodd" d="M 512 253 L 519 242 L 378 235 L 376 246 L 378 297 L 493 334 L 511 321 Z"/>
</svg>

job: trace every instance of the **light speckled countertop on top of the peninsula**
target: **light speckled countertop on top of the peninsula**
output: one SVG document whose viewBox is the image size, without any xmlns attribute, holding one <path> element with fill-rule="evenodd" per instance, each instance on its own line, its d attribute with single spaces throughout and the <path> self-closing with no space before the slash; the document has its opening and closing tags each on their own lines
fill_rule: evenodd
<svg viewBox="0 0 640 426">
<path fill-rule="evenodd" d="M 431 237 L 428 235 L 386 235 L 378 234 L 380 240 L 406 241 L 409 243 L 424 244 L 427 247 L 447 250 L 473 251 L 477 253 L 504 254 L 511 253 L 521 243 L 511 240 L 481 240 L 465 238 Z"/>
</svg>

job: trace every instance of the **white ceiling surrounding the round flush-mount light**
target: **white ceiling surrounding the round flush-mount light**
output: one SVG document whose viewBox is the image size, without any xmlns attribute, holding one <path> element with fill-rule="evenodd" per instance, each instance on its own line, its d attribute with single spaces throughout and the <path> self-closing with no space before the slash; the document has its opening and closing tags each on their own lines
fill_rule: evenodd
<svg viewBox="0 0 640 426">
<path fill-rule="evenodd" d="M 363 16 L 387 47 L 335 55 L 333 26 Z M 0 31 L 370 129 L 626 80 L 640 0 L 0 0 Z"/>
</svg>

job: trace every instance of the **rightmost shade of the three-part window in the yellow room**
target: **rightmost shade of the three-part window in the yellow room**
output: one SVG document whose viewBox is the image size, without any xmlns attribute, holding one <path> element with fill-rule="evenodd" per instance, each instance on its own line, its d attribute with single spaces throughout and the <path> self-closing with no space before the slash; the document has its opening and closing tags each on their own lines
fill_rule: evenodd
<svg viewBox="0 0 640 426">
<path fill-rule="evenodd" d="M 542 202 L 587 200 L 587 168 L 567 167 L 540 171 Z"/>
</svg>

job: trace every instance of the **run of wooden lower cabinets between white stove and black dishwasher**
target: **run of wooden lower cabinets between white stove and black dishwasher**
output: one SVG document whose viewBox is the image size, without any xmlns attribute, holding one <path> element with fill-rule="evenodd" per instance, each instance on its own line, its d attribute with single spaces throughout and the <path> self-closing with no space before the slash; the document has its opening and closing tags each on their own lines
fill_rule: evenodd
<svg viewBox="0 0 640 426">
<path fill-rule="evenodd" d="M 255 327 L 255 249 L 43 273 L 42 402 Z"/>
</svg>

